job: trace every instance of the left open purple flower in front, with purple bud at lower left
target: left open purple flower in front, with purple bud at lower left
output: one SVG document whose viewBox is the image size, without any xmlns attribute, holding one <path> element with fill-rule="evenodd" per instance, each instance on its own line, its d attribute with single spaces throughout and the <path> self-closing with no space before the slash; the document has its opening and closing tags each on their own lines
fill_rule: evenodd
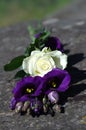
<svg viewBox="0 0 86 130">
<path fill-rule="evenodd" d="M 35 96 L 39 96 L 40 92 L 37 89 L 41 82 L 42 78 L 39 76 L 25 77 L 17 82 L 15 88 L 12 91 L 14 97 L 11 100 L 11 109 L 15 109 L 17 102 L 25 102 L 31 100 Z"/>
</svg>

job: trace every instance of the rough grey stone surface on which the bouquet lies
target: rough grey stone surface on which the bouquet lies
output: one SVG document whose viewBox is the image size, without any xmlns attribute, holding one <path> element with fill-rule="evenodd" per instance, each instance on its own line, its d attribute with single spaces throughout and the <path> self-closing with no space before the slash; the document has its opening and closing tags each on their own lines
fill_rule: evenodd
<svg viewBox="0 0 86 130">
<path fill-rule="evenodd" d="M 0 29 L 0 130 L 85 130 L 86 129 L 86 0 L 43 20 L 43 25 L 58 36 L 69 56 L 70 89 L 62 94 L 64 112 L 55 116 L 33 118 L 9 109 L 14 72 L 4 72 L 3 65 L 24 52 L 29 43 L 27 22 Z"/>
</svg>

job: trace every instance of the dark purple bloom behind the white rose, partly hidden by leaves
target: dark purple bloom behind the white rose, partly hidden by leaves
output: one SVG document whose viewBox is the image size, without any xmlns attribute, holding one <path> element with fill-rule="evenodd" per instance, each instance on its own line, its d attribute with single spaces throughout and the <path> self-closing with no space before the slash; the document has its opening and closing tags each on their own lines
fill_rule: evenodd
<svg viewBox="0 0 86 130">
<path fill-rule="evenodd" d="M 40 38 L 41 35 L 42 33 L 38 33 L 35 35 L 35 37 Z M 45 42 L 45 47 L 49 47 L 52 51 L 57 49 L 61 52 L 64 52 L 63 46 L 57 37 L 49 36 Z"/>
</svg>

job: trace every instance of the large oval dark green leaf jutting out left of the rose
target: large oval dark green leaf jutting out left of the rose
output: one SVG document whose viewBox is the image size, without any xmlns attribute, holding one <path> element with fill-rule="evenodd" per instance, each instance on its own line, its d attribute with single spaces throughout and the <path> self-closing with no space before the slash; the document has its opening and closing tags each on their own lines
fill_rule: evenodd
<svg viewBox="0 0 86 130">
<path fill-rule="evenodd" d="M 25 58 L 25 56 L 21 55 L 21 56 L 18 56 L 16 58 L 12 59 L 10 63 L 8 63 L 4 66 L 4 70 L 12 71 L 12 70 L 19 68 L 22 65 L 22 61 L 24 58 Z"/>
</svg>

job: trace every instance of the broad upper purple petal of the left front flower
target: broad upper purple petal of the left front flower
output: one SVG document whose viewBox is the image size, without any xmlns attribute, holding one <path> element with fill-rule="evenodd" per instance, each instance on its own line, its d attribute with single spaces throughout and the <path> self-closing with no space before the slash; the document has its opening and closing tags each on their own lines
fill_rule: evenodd
<svg viewBox="0 0 86 130">
<path fill-rule="evenodd" d="M 41 77 L 36 76 L 36 77 L 25 77 L 22 80 L 20 80 L 15 88 L 13 89 L 13 94 L 15 98 L 21 98 L 22 96 L 24 96 L 24 90 L 29 87 L 29 86 L 33 86 L 34 87 L 34 93 L 32 94 L 33 96 L 35 95 L 39 95 L 38 91 L 36 92 L 37 87 L 39 86 L 40 82 L 41 82 Z M 31 94 L 28 94 L 31 95 Z"/>
</svg>

